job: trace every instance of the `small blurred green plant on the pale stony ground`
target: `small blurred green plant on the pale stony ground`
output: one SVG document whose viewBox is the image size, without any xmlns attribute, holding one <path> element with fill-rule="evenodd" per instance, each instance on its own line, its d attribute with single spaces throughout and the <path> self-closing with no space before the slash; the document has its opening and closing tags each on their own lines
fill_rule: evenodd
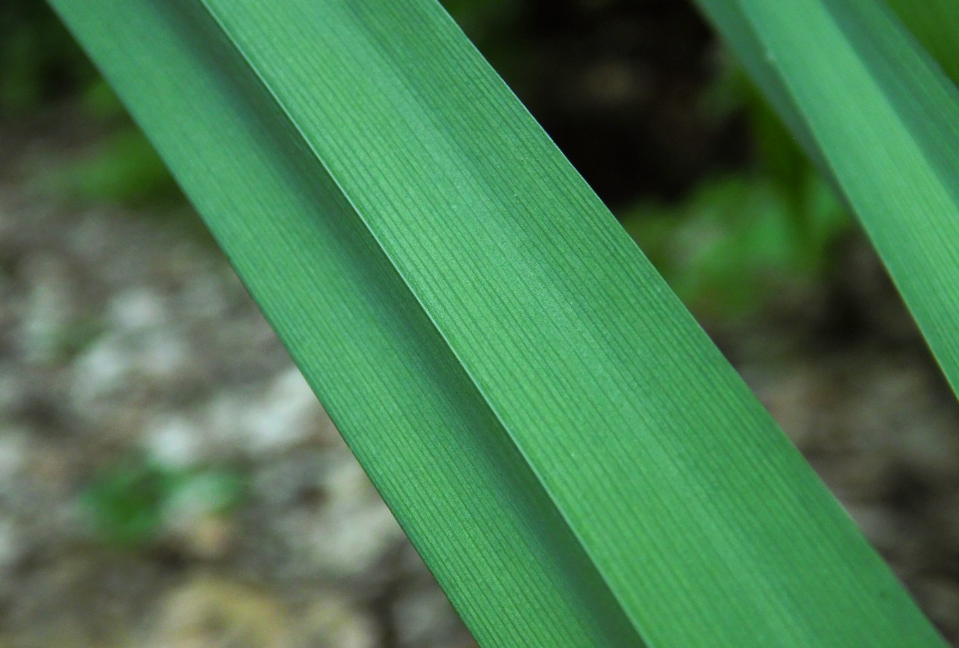
<svg viewBox="0 0 959 648">
<path fill-rule="evenodd" d="M 175 468 L 127 457 L 96 474 L 80 504 L 95 537 L 135 547 L 160 538 L 177 517 L 225 515 L 246 497 L 242 474 L 223 468 Z"/>
</svg>

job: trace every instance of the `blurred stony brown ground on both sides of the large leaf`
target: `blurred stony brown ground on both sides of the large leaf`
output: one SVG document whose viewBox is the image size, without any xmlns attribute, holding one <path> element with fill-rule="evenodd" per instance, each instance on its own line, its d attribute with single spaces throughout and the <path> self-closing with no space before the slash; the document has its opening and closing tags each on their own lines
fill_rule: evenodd
<svg viewBox="0 0 959 648">
<path fill-rule="evenodd" d="M 182 211 L 0 184 L 0 646 L 475 645 Z M 728 351 L 956 640 L 959 410 L 863 264 L 905 342 Z"/>
</svg>

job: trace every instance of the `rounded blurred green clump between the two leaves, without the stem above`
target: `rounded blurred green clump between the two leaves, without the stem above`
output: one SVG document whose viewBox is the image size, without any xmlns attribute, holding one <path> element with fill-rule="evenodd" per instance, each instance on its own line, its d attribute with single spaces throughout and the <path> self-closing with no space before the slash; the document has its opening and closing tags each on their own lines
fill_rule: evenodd
<svg viewBox="0 0 959 648">
<path fill-rule="evenodd" d="M 852 224 L 817 174 L 801 174 L 796 185 L 730 174 L 678 204 L 637 205 L 623 224 L 697 316 L 746 317 L 784 291 L 802 299 L 815 289 Z"/>
</svg>

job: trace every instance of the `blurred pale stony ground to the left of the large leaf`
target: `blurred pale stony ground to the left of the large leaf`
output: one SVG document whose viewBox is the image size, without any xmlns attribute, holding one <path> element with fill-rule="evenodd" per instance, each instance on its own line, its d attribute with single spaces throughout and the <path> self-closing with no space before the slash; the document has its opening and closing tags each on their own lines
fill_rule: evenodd
<svg viewBox="0 0 959 648">
<path fill-rule="evenodd" d="M 0 645 L 473 645 L 175 217 L 0 186 Z"/>
</svg>

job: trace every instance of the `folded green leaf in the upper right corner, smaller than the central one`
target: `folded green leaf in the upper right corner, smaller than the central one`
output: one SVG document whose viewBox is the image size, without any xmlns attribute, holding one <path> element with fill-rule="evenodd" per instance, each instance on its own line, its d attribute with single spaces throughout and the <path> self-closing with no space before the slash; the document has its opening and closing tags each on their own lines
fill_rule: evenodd
<svg viewBox="0 0 959 648">
<path fill-rule="evenodd" d="M 955 85 L 875 0 L 698 1 L 834 178 L 959 391 Z M 947 6 L 923 11 L 954 24 Z"/>
</svg>

